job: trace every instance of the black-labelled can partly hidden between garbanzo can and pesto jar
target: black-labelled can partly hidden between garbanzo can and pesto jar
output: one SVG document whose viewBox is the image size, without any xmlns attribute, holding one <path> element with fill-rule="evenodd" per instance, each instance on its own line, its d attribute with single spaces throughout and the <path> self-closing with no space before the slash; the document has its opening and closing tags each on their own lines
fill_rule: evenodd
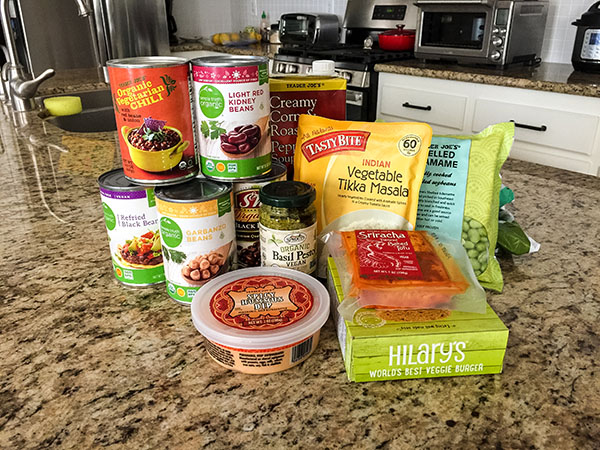
<svg viewBox="0 0 600 450">
<path fill-rule="evenodd" d="M 285 165 L 273 161 L 271 172 L 252 180 L 233 183 L 233 210 L 235 212 L 235 240 L 238 267 L 260 266 L 258 212 L 260 188 L 286 178 Z"/>
</svg>

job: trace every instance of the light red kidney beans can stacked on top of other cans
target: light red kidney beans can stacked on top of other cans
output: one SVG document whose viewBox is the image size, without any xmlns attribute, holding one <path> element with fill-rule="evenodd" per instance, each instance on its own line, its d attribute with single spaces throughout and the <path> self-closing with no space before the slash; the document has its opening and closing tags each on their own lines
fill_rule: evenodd
<svg viewBox="0 0 600 450">
<path fill-rule="evenodd" d="M 242 180 L 271 169 L 268 59 L 192 59 L 193 103 L 202 173 Z"/>
</svg>

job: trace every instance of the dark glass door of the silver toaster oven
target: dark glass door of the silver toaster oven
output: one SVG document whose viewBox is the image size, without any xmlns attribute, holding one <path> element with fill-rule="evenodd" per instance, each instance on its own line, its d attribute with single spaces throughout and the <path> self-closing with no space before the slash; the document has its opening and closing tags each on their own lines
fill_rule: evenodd
<svg viewBox="0 0 600 450">
<path fill-rule="evenodd" d="M 421 7 L 415 56 L 486 60 L 494 8 L 483 4 L 417 3 Z"/>
</svg>

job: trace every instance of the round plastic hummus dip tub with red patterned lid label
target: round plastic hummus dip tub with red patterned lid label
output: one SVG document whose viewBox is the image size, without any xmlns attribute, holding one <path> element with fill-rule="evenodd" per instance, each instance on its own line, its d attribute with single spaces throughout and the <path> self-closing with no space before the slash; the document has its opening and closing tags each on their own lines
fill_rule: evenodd
<svg viewBox="0 0 600 450">
<path fill-rule="evenodd" d="M 192 301 L 192 321 L 211 358 L 228 369 L 289 369 L 317 347 L 329 294 L 316 279 L 280 267 L 250 267 L 209 281 Z"/>
</svg>

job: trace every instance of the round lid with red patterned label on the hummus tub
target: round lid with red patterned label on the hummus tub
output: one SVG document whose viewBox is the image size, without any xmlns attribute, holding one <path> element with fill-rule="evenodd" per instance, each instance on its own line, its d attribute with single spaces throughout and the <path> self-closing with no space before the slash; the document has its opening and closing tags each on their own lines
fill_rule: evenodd
<svg viewBox="0 0 600 450">
<path fill-rule="evenodd" d="M 269 309 L 267 300 L 273 296 L 280 301 Z M 329 316 L 329 293 L 298 270 L 250 267 L 204 284 L 194 295 L 191 312 L 194 326 L 208 340 L 235 349 L 266 350 L 319 331 Z"/>
</svg>

